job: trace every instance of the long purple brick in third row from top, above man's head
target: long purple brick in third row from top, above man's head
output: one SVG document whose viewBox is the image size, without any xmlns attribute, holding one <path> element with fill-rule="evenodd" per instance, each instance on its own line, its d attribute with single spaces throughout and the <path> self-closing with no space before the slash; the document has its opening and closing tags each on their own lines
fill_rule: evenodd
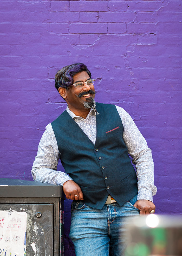
<svg viewBox="0 0 182 256">
<path fill-rule="evenodd" d="M 84 33 L 84 34 L 93 34 L 93 33 L 107 33 L 107 24 L 104 23 L 77 23 L 70 24 L 69 26 L 70 33 Z"/>
</svg>

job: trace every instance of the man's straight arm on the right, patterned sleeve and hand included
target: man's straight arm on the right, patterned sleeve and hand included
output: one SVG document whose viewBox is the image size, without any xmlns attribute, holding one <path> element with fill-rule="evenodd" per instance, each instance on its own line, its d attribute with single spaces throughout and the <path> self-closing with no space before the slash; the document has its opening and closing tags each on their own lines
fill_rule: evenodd
<svg viewBox="0 0 182 256">
<path fill-rule="evenodd" d="M 134 206 L 139 208 L 140 214 L 148 214 L 151 210 L 155 211 L 152 196 L 157 192 L 157 188 L 154 186 L 154 164 L 151 149 L 148 148 L 145 138 L 130 115 L 124 109 L 118 106 L 116 108 L 124 126 L 123 139 L 136 167 L 138 197 Z"/>
</svg>

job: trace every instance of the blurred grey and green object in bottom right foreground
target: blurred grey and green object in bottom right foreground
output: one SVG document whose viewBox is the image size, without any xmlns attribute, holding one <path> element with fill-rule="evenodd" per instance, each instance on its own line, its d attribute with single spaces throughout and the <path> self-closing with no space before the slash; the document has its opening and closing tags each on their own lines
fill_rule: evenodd
<svg viewBox="0 0 182 256">
<path fill-rule="evenodd" d="M 138 217 L 127 231 L 125 256 L 182 255 L 182 216 Z"/>
</svg>

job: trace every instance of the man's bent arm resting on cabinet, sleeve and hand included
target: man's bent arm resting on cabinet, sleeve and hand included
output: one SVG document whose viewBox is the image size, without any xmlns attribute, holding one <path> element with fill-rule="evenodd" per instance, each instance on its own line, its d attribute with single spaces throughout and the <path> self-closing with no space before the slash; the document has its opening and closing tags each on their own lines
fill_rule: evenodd
<svg viewBox="0 0 182 256">
<path fill-rule="evenodd" d="M 83 200 L 79 185 L 66 173 L 57 171 L 60 152 L 51 124 L 46 126 L 38 146 L 37 156 L 32 167 L 32 176 L 36 182 L 44 182 L 63 186 L 67 199 Z M 79 195 L 79 197 L 75 197 Z"/>
</svg>

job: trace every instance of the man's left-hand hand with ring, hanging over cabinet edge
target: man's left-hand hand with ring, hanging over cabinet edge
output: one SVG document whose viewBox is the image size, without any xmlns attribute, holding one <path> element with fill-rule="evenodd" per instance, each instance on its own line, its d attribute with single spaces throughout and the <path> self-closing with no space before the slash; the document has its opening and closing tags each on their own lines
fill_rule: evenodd
<svg viewBox="0 0 182 256">
<path fill-rule="evenodd" d="M 64 182 L 63 192 L 66 195 L 67 199 L 83 200 L 83 193 L 81 191 L 81 188 L 72 180 Z"/>
</svg>

